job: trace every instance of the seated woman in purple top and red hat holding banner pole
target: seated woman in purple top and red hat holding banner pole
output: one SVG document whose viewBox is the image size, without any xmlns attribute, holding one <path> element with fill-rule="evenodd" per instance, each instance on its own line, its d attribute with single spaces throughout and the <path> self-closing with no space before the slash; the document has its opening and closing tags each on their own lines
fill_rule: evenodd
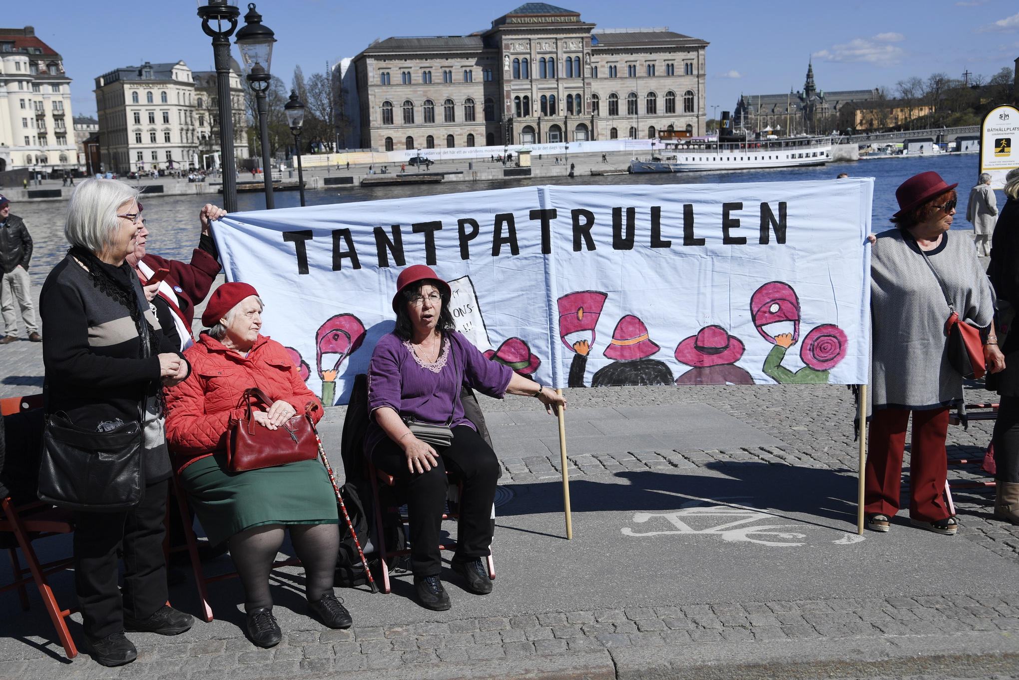
<svg viewBox="0 0 1019 680">
<path fill-rule="evenodd" d="M 492 590 L 484 558 L 492 542 L 490 519 L 499 464 L 495 452 L 464 417 L 462 385 L 496 399 L 505 393 L 536 397 L 549 413 L 554 406 L 565 406 L 566 400 L 508 366 L 489 361 L 453 330 L 449 285 L 430 267 L 408 267 L 396 289 L 392 299 L 396 327 L 375 346 L 368 366 L 371 424 L 365 453 L 375 467 L 406 485 L 415 589 L 425 607 L 444 611 L 449 609 L 449 595 L 439 580 L 438 546 L 446 470 L 464 482 L 452 569 L 473 592 Z M 415 436 L 404 418 L 449 424 L 452 443 L 436 451 Z"/>
</svg>

